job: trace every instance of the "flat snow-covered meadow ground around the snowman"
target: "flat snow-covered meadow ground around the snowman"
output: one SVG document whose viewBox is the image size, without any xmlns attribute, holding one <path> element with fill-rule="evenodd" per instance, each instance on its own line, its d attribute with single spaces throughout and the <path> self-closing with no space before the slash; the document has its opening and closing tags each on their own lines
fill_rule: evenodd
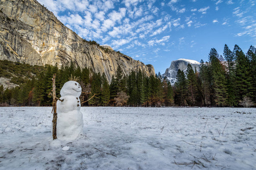
<svg viewBox="0 0 256 170">
<path fill-rule="evenodd" d="M 75 141 L 51 109 L 0 108 L 0 169 L 256 169 L 255 108 L 82 107 Z"/>
</svg>

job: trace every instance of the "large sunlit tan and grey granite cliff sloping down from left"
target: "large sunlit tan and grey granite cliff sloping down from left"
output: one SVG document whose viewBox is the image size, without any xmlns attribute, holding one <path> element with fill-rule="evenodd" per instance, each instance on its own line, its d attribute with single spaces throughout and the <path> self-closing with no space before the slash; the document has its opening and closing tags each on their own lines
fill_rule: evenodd
<svg viewBox="0 0 256 170">
<path fill-rule="evenodd" d="M 59 67 L 73 61 L 105 73 L 109 82 L 118 65 L 124 74 L 137 69 L 155 74 L 152 65 L 89 44 L 35 0 L 1 0 L 0 9 L 0 59 Z"/>
</svg>

